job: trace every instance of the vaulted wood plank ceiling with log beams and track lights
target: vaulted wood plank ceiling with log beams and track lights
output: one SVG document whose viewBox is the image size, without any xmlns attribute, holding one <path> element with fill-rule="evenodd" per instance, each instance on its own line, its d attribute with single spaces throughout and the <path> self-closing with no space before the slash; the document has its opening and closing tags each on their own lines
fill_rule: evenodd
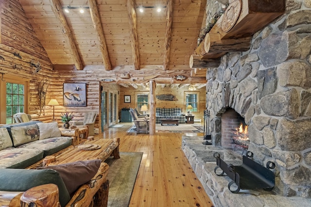
<svg viewBox="0 0 311 207">
<path fill-rule="evenodd" d="M 132 76 L 144 70 L 155 69 L 157 74 L 173 70 L 186 77 L 191 76 L 190 55 L 197 47 L 207 2 L 19 1 L 54 68 L 94 67 L 131 71 Z"/>
</svg>

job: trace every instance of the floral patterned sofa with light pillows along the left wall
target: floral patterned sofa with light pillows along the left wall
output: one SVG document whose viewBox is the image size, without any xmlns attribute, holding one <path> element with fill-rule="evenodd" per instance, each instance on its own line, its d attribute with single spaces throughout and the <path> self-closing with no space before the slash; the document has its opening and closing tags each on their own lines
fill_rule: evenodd
<svg viewBox="0 0 311 207">
<path fill-rule="evenodd" d="M 57 122 L 31 121 L 0 127 L 0 168 L 26 168 L 72 143 Z"/>
</svg>

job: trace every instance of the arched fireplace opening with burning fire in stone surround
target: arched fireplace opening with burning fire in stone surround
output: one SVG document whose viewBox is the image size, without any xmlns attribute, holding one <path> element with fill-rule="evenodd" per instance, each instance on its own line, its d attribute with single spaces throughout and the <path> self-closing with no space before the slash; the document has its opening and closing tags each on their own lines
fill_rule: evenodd
<svg viewBox="0 0 311 207">
<path fill-rule="evenodd" d="M 247 150 L 248 126 L 244 118 L 232 108 L 226 109 L 221 117 L 221 145 L 225 149 Z"/>
</svg>

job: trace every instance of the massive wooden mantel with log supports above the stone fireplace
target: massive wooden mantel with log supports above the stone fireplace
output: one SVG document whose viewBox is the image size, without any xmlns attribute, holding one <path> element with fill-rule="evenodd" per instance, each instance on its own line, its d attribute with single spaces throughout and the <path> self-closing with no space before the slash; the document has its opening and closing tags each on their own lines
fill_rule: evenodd
<svg viewBox="0 0 311 207">
<path fill-rule="evenodd" d="M 285 0 L 231 1 L 225 13 L 190 56 L 190 68 L 218 67 L 219 59 L 225 53 L 247 51 L 251 36 L 284 11 Z"/>
</svg>

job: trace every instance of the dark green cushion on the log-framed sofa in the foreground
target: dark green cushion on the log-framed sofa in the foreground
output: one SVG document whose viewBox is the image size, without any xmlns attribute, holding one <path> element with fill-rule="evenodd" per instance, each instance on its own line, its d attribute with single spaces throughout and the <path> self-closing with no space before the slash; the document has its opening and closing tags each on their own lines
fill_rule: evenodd
<svg viewBox="0 0 311 207">
<path fill-rule="evenodd" d="M 52 169 L 0 169 L 0 191 L 27 191 L 32 187 L 53 183 L 59 191 L 59 202 L 64 207 L 70 201 L 70 195 L 59 173 Z"/>
</svg>

